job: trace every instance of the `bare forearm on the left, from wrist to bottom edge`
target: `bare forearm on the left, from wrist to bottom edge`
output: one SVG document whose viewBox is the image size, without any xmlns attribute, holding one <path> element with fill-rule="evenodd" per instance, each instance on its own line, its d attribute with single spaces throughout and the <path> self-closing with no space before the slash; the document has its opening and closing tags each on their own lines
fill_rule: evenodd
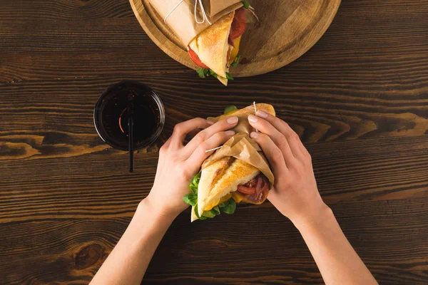
<svg viewBox="0 0 428 285">
<path fill-rule="evenodd" d="M 175 215 L 168 217 L 156 212 L 148 200 L 143 200 L 91 284 L 141 284 L 156 247 L 174 218 Z"/>
</svg>

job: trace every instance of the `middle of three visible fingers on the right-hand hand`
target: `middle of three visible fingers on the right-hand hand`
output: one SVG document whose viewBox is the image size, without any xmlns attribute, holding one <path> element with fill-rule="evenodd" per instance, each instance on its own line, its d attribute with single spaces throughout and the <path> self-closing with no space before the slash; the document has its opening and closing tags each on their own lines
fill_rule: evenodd
<svg viewBox="0 0 428 285">
<path fill-rule="evenodd" d="M 271 125 L 267 120 L 259 118 L 255 115 L 249 115 L 248 121 L 250 125 L 253 126 L 256 130 L 260 130 L 262 133 L 268 135 L 272 142 L 280 148 L 282 156 L 285 159 L 285 163 L 290 167 L 293 163 L 296 162 L 295 157 L 292 153 L 290 145 L 288 145 L 285 135 L 282 135 L 279 130 L 277 130 L 273 125 Z"/>
</svg>

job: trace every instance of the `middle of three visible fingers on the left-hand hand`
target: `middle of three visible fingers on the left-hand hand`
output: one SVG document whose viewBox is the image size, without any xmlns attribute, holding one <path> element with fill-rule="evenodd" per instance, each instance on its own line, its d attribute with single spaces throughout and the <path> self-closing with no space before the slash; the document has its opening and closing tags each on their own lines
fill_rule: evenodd
<svg viewBox="0 0 428 285">
<path fill-rule="evenodd" d="M 220 120 L 205 130 L 200 131 L 198 135 L 195 135 L 195 138 L 190 140 L 190 142 L 185 145 L 183 151 L 190 156 L 200 144 L 205 142 L 205 140 L 208 140 L 218 132 L 229 130 L 230 128 L 235 127 L 237 124 L 238 117 L 230 117 L 226 120 Z"/>
</svg>

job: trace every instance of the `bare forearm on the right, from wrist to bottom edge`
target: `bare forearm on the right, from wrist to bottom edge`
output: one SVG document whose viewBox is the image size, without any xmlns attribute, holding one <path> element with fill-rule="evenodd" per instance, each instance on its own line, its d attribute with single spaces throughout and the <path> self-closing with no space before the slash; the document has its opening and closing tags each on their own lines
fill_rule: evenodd
<svg viewBox="0 0 428 285">
<path fill-rule="evenodd" d="M 310 249 L 325 284 L 377 284 L 348 242 L 332 210 L 322 209 L 310 222 L 295 222 Z"/>
</svg>

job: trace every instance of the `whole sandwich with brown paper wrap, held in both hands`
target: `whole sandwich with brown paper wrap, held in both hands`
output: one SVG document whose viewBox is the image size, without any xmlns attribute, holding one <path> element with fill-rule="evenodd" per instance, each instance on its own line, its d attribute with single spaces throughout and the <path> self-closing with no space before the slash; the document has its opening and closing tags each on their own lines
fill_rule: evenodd
<svg viewBox="0 0 428 285">
<path fill-rule="evenodd" d="M 274 177 L 260 147 L 250 138 L 254 128 L 248 115 L 263 110 L 275 115 L 272 105 L 255 104 L 237 110 L 226 108 L 225 114 L 208 118 L 218 122 L 236 116 L 236 135 L 210 155 L 201 171 L 190 182 L 190 191 L 183 201 L 192 205 L 191 220 L 213 218 L 220 213 L 233 214 L 236 204 L 261 204 L 273 185 Z"/>
</svg>

